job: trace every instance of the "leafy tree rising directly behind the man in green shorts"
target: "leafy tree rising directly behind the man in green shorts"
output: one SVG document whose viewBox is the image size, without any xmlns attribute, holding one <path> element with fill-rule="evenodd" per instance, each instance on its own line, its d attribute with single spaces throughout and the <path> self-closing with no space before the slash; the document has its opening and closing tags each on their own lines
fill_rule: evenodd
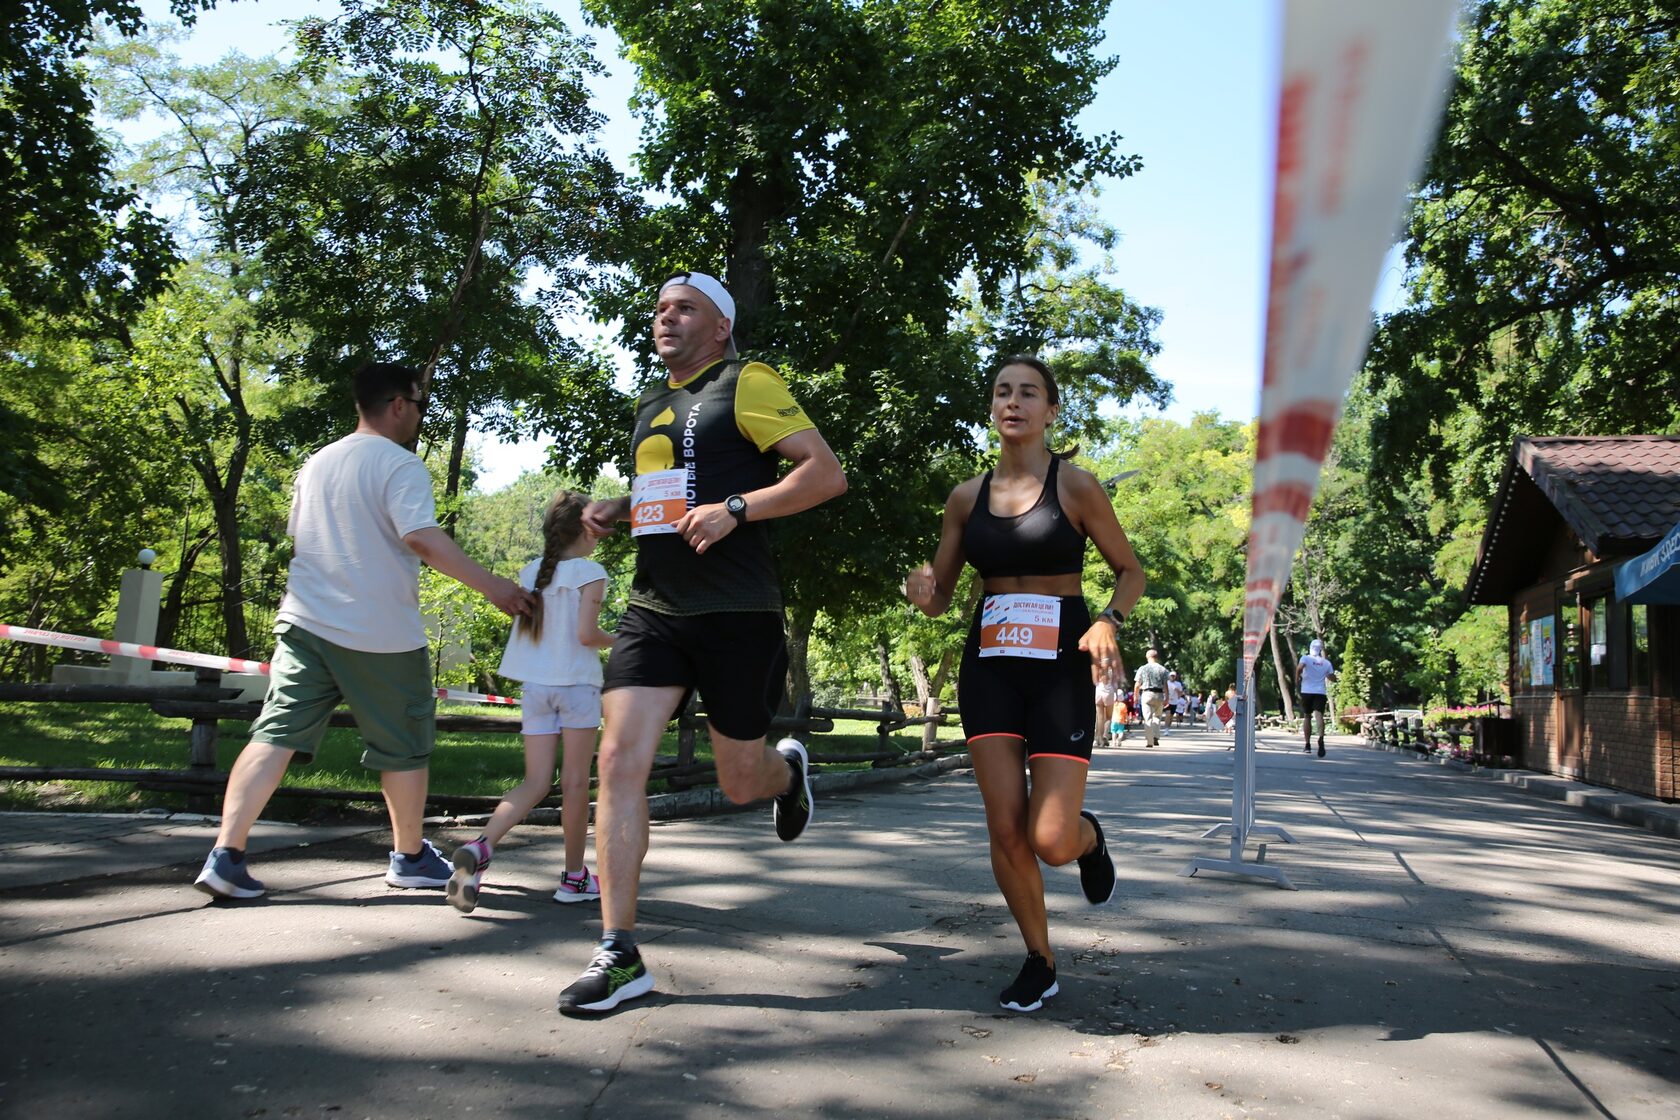
<svg viewBox="0 0 1680 1120">
<path fill-rule="evenodd" d="M 423 364 L 449 499 L 472 428 L 617 416 L 610 368 L 563 329 L 630 205 L 590 146 L 590 42 L 524 0 L 346 0 L 297 47 L 301 79 L 341 71 L 353 92 L 260 146 L 240 233 L 274 277 L 267 314 L 312 327 L 301 371 L 336 386 L 370 354 Z"/>
</svg>

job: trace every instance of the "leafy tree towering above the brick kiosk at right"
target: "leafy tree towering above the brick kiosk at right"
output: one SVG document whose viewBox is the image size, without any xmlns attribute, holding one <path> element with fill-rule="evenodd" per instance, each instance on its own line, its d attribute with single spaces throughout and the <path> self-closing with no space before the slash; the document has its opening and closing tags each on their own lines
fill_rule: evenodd
<svg viewBox="0 0 1680 1120">
<path fill-rule="evenodd" d="M 1386 477 L 1446 495 L 1514 435 L 1680 427 L 1677 34 L 1648 0 L 1472 5 L 1373 349 Z"/>
</svg>

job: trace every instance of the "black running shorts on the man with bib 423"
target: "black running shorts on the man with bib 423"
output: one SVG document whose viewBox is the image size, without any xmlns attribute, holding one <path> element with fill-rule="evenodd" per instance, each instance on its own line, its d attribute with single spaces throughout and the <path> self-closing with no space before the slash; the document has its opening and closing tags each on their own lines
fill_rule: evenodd
<svg viewBox="0 0 1680 1120">
<path fill-rule="evenodd" d="M 659 615 L 632 606 L 617 633 L 601 692 L 675 685 L 699 692 L 706 719 L 729 739 L 769 730 L 788 675 L 780 613 Z"/>
</svg>

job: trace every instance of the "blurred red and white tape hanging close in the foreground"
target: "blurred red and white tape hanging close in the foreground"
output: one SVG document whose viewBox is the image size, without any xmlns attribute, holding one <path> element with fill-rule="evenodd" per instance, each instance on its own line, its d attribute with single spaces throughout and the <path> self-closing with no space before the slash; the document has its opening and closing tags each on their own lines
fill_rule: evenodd
<svg viewBox="0 0 1680 1120">
<path fill-rule="evenodd" d="M 1289 584 L 1371 294 L 1446 94 L 1457 0 L 1290 0 L 1243 599 L 1243 678 Z"/>
</svg>

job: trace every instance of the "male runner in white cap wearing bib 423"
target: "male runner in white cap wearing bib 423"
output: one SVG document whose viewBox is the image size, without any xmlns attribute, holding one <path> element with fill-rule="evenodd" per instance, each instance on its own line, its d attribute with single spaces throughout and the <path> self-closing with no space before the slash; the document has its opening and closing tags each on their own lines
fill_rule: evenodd
<svg viewBox="0 0 1680 1120">
<path fill-rule="evenodd" d="M 690 693 L 706 709 L 724 796 L 774 798 L 781 840 L 811 819 L 805 747 L 764 741 L 788 668 L 764 522 L 838 497 L 845 472 L 781 376 L 734 359 L 734 299 L 704 272 L 660 284 L 654 351 L 667 376 L 635 406 L 630 497 L 583 510 L 600 536 L 628 521 L 637 564 L 601 683 L 601 944 L 559 994 L 563 1014 L 610 1011 L 654 989 L 635 944 L 647 777 Z M 786 474 L 781 460 L 793 463 Z"/>
</svg>

